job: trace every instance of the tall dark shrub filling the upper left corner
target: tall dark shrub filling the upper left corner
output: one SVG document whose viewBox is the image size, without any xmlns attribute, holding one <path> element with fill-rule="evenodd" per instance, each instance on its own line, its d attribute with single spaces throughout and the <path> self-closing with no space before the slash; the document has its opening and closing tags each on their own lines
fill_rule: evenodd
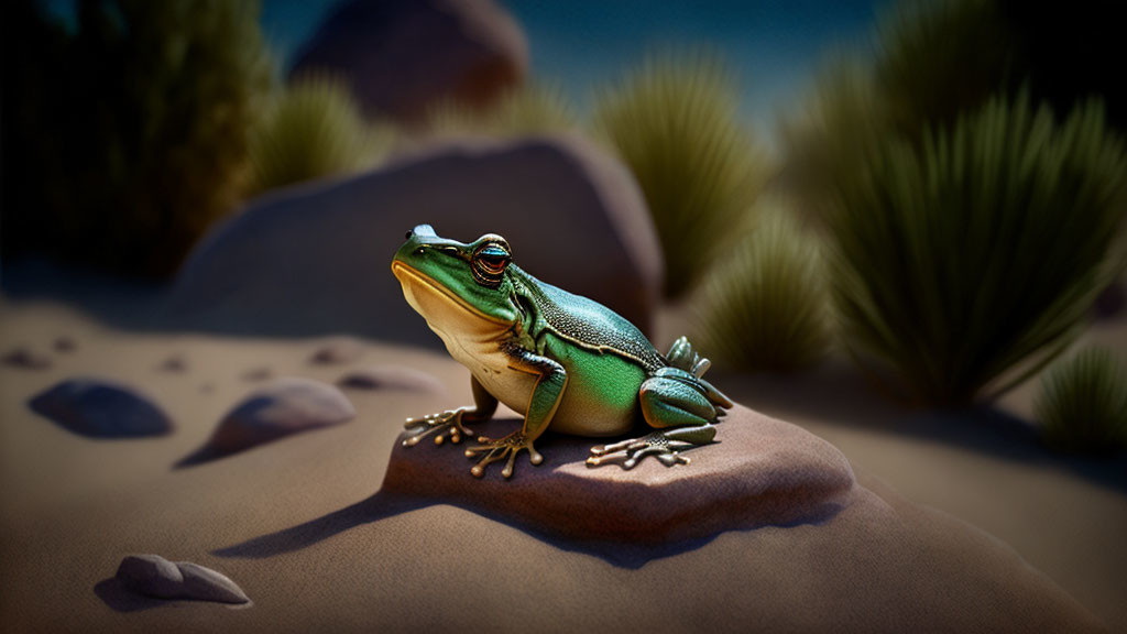
<svg viewBox="0 0 1127 634">
<path fill-rule="evenodd" d="M 42 16 L 35 19 L 43 19 Z M 53 39 L 51 90 L 8 83 L 6 112 L 36 109 L 9 157 L 18 208 L 46 235 L 12 237 L 86 264 L 163 275 L 232 209 L 245 185 L 248 130 L 269 88 L 252 0 L 87 0 Z M 18 59 L 24 59 L 19 56 Z M 9 102 L 10 99 L 10 102 Z M 18 226 L 18 224 L 17 224 Z M 9 236 L 6 236 L 8 239 Z"/>
</svg>

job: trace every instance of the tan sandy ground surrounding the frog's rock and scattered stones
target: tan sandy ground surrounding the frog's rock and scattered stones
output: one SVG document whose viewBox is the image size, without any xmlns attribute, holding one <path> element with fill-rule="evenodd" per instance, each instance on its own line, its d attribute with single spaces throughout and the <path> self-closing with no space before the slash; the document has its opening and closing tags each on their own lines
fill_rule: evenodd
<svg viewBox="0 0 1127 634">
<path fill-rule="evenodd" d="M 402 419 L 437 400 L 469 402 L 464 370 L 444 354 L 370 342 L 356 364 L 426 371 L 449 397 L 348 390 L 354 421 L 172 469 L 255 388 L 241 378 L 248 370 L 334 382 L 349 367 L 308 363 L 325 340 L 139 334 L 50 305 L 0 306 L 0 351 L 46 349 L 60 335 L 72 336 L 78 349 L 52 354 L 50 369 L 0 368 L 6 632 L 802 631 L 827 624 L 926 631 L 1014 623 L 1083 631 L 1099 627 L 1089 610 L 1127 628 L 1115 601 L 1125 596 L 1125 569 L 1116 566 L 1125 551 L 1121 488 L 1054 464 L 882 429 L 880 416 L 897 412 L 863 391 L 818 399 L 823 410 L 842 408 L 833 412 L 789 404 L 788 420 L 837 444 L 863 485 L 833 520 L 725 532 L 633 569 L 447 504 L 371 508 Z M 184 355 L 186 371 L 159 371 L 172 354 Z M 832 369 L 826 373 L 840 382 Z M 140 387 L 176 421 L 176 433 L 90 440 L 26 407 L 30 395 L 82 375 Z M 737 379 L 725 378 L 722 387 L 742 402 L 755 400 L 749 404 L 772 415 L 787 408 L 779 385 Z M 797 394 L 793 400 L 810 402 Z M 858 417 L 876 422 L 827 422 Z M 909 500 L 946 504 L 1017 552 Z M 1093 527 L 1093 518 L 1104 523 Z M 99 596 L 96 588 L 130 553 L 215 569 L 252 605 Z"/>
</svg>

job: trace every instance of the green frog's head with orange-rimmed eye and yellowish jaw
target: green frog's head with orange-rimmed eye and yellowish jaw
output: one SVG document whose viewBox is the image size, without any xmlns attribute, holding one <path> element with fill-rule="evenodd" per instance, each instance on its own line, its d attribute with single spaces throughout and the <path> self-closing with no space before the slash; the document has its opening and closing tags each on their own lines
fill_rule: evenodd
<svg viewBox="0 0 1127 634">
<path fill-rule="evenodd" d="M 419 224 L 407 232 L 391 272 L 408 303 L 433 328 L 449 331 L 481 320 L 507 326 L 517 318 L 507 274 L 512 261 L 508 243 L 496 234 L 464 244 Z"/>
</svg>

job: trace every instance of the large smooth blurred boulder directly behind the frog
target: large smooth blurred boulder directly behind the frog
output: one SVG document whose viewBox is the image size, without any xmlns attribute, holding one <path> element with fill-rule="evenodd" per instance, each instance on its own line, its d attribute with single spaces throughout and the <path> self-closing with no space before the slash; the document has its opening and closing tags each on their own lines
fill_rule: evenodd
<svg viewBox="0 0 1127 634">
<path fill-rule="evenodd" d="M 447 141 L 375 171 L 259 199 L 190 255 L 168 319 L 438 347 L 390 271 L 403 234 L 424 222 L 463 241 L 500 234 L 523 270 L 649 329 L 662 258 L 645 202 L 618 160 L 576 137 Z"/>
</svg>

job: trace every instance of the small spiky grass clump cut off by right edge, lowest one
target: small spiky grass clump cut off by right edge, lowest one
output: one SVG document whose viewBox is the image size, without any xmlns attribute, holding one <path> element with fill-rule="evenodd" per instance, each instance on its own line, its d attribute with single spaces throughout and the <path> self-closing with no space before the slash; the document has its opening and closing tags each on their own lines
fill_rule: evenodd
<svg viewBox="0 0 1127 634">
<path fill-rule="evenodd" d="M 1065 451 L 1107 454 L 1127 447 L 1127 367 L 1089 347 L 1049 368 L 1035 402 L 1045 441 Z"/>
</svg>

